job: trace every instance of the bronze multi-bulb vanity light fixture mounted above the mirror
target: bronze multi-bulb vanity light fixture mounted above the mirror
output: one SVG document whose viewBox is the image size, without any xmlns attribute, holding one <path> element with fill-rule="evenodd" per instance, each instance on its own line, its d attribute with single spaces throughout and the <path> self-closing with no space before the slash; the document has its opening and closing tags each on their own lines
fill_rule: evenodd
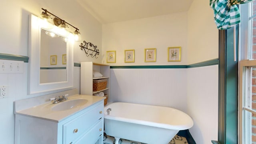
<svg viewBox="0 0 256 144">
<path fill-rule="evenodd" d="M 48 10 L 42 8 L 42 10 L 44 10 L 42 13 L 41 13 L 41 17 L 44 19 L 44 20 L 48 20 L 49 18 L 52 19 L 53 23 L 55 26 L 58 26 L 60 28 L 63 28 L 63 29 L 67 29 L 69 28 L 68 26 L 72 26 L 75 31 L 73 32 L 74 34 L 74 37 L 75 37 L 75 40 L 78 40 L 78 34 L 80 34 L 79 32 L 79 29 L 76 28 L 75 26 L 73 26 L 72 24 L 66 22 L 65 20 L 62 20 L 61 18 L 59 18 L 58 16 L 52 14 L 51 12 L 49 12 Z M 52 18 L 54 17 L 54 18 Z M 62 32 L 63 33 L 63 32 Z M 64 34 L 65 35 L 65 34 Z"/>
</svg>

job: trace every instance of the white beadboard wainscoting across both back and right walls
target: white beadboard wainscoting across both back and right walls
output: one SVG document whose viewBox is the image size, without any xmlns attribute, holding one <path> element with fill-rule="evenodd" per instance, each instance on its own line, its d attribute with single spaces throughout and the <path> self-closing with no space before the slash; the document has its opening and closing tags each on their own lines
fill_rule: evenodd
<svg viewBox="0 0 256 144">
<path fill-rule="evenodd" d="M 218 139 L 218 65 L 110 69 L 110 101 L 169 106 L 190 115 L 196 144 Z"/>
</svg>

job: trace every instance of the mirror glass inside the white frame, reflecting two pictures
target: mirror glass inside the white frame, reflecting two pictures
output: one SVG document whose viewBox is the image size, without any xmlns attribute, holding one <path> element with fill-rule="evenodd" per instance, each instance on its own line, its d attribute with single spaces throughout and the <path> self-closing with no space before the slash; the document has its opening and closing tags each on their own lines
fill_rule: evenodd
<svg viewBox="0 0 256 144">
<path fill-rule="evenodd" d="M 41 28 L 40 84 L 67 81 L 66 38 Z"/>
</svg>

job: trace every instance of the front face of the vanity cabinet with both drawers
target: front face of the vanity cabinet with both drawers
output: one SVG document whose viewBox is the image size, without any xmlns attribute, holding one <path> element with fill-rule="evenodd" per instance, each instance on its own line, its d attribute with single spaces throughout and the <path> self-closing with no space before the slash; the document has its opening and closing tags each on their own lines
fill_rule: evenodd
<svg viewBox="0 0 256 144">
<path fill-rule="evenodd" d="M 94 144 L 103 138 L 103 109 L 103 104 L 100 104 L 63 124 L 63 144 L 74 144 L 76 141 Z"/>
</svg>

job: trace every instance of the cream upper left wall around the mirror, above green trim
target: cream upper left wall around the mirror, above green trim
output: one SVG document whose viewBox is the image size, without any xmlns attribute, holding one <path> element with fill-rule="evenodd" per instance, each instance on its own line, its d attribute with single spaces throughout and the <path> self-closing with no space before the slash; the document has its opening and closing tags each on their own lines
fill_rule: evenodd
<svg viewBox="0 0 256 144">
<path fill-rule="evenodd" d="M 28 15 L 40 16 L 45 8 L 79 28 L 80 41 L 74 46 L 74 62 L 94 61 L 101 62 L 100 58 L 86 57 L 80 49 L 80 43 L 85 40 L 102 47 L 102 24 L 91 16 L 76 1 L 62 0 L 4 0 L 0 6 L 1 30 L 0 43 L 1 53 L 28 55 Z"/>
</svg>

